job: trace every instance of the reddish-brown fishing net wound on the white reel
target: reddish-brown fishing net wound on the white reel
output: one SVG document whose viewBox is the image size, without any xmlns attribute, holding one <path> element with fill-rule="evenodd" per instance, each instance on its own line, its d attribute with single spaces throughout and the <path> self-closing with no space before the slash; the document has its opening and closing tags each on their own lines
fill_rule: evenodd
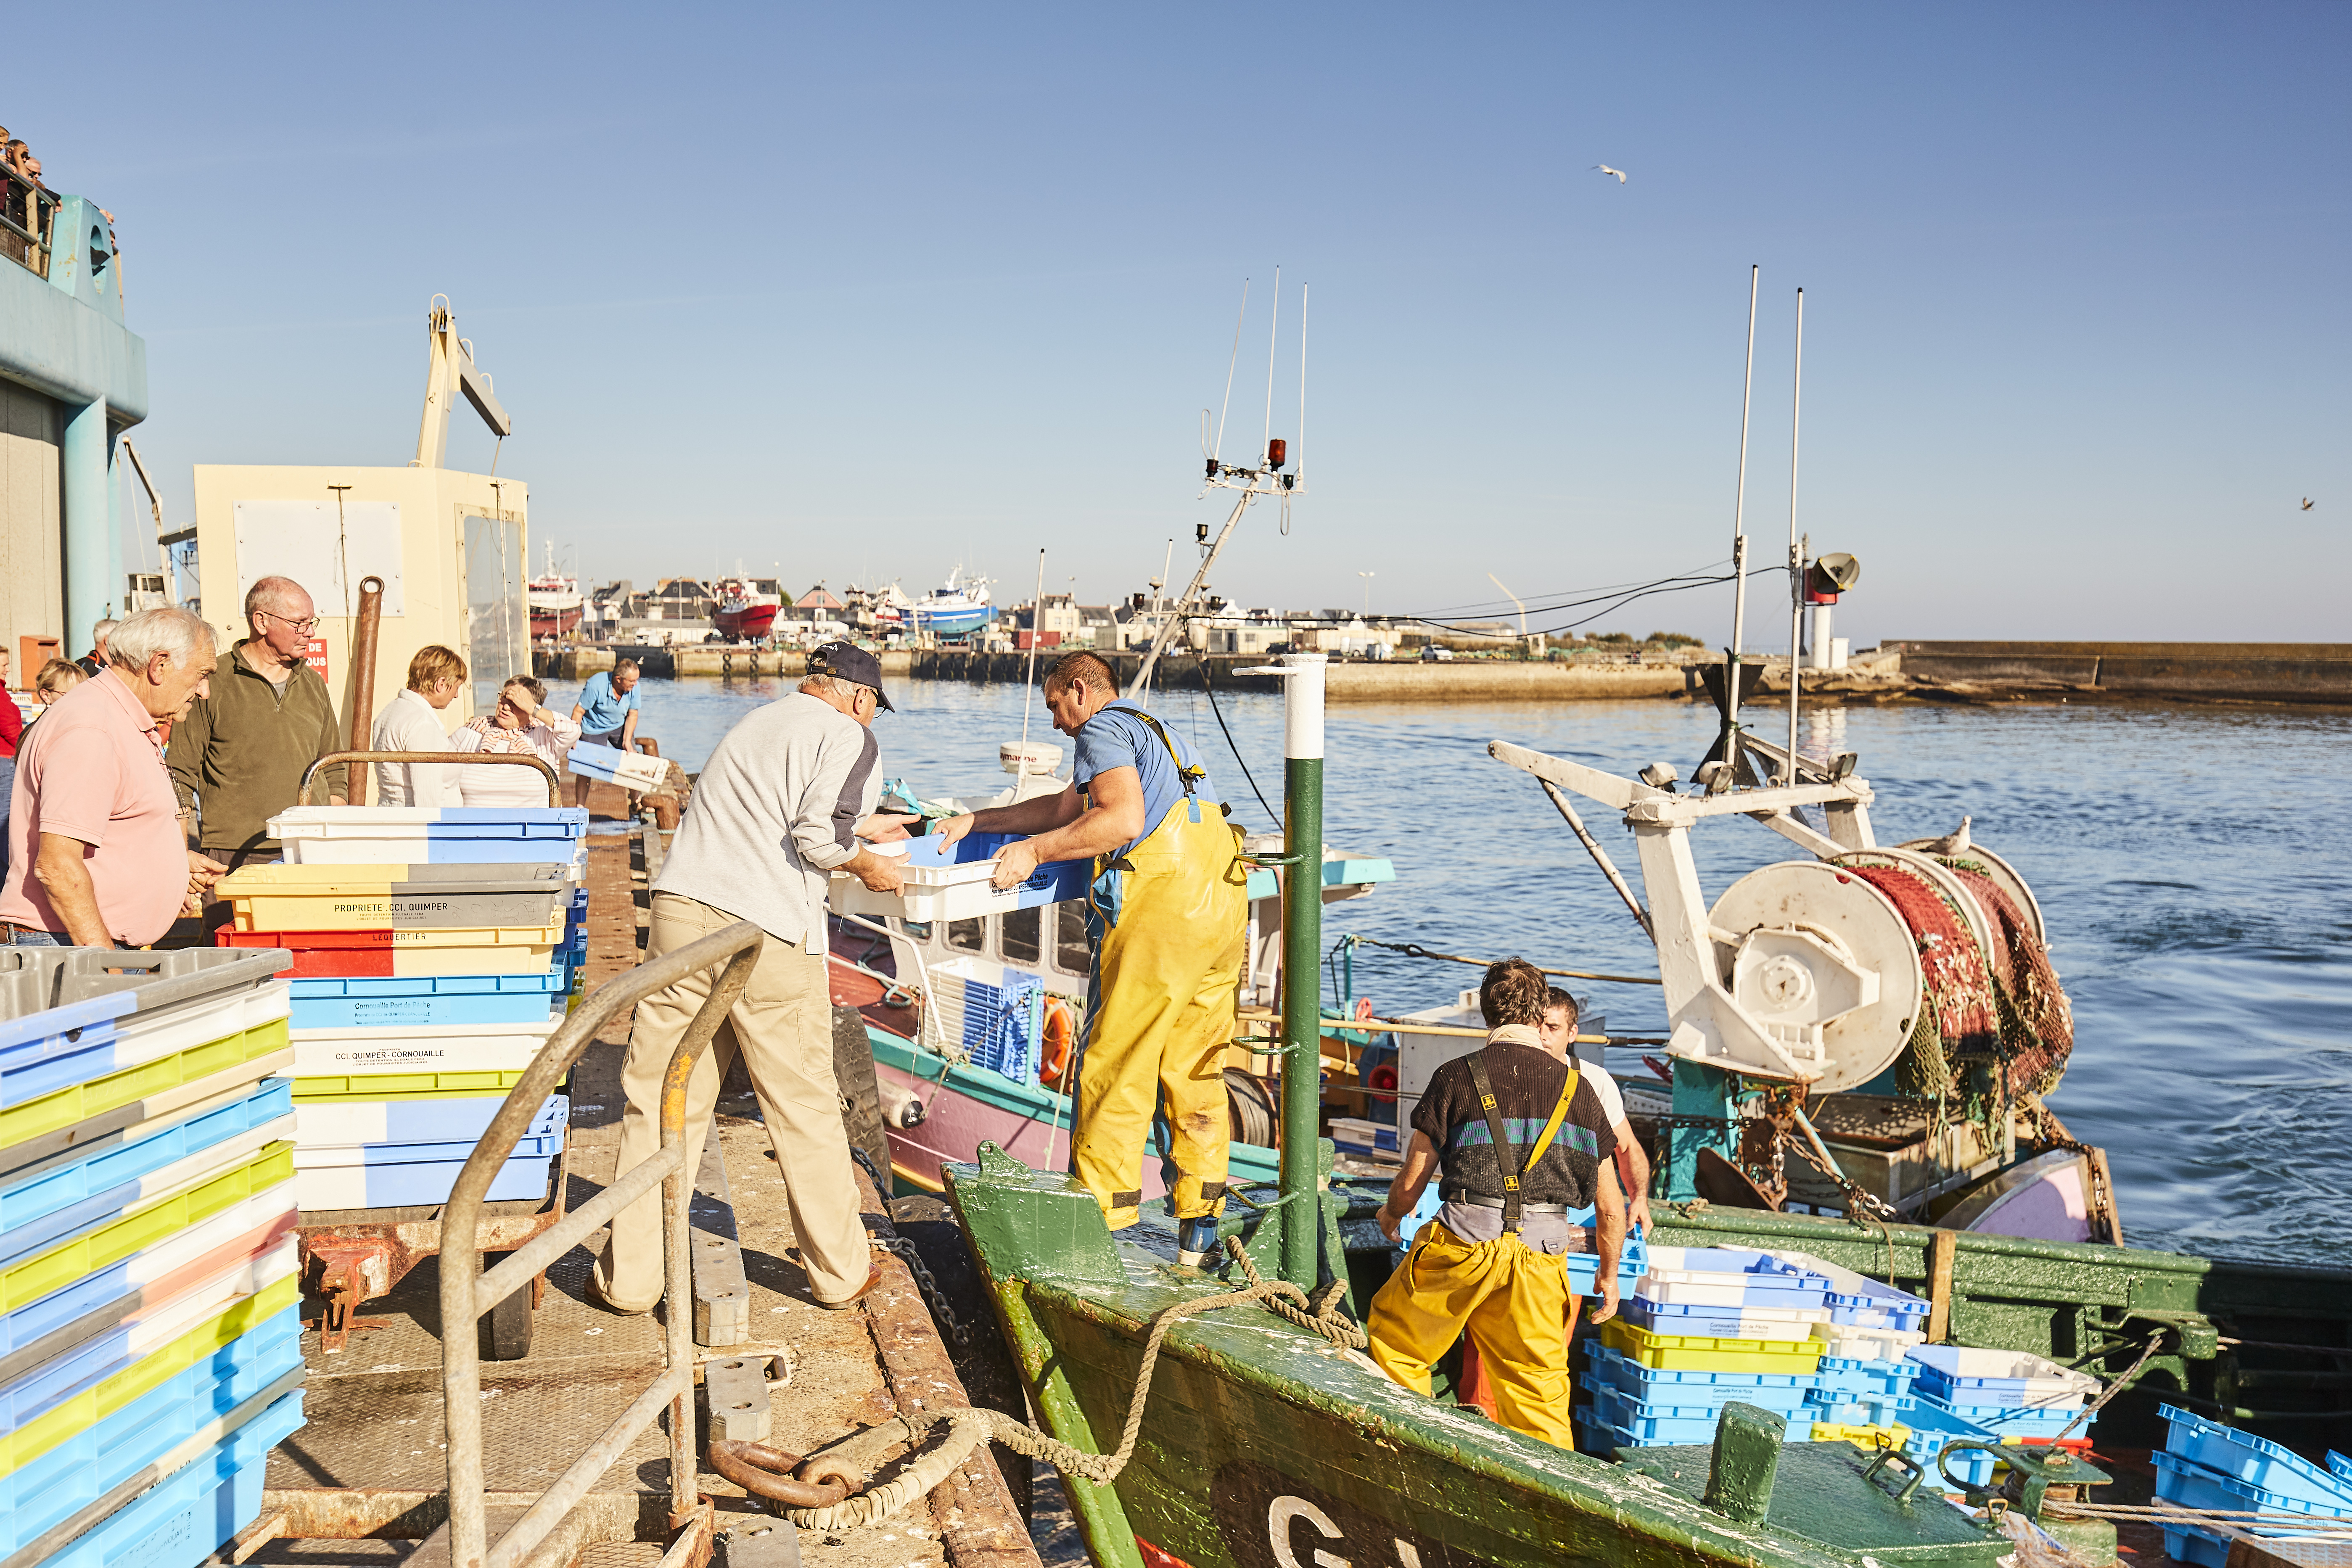
<svg viewBox="0 0 2352 1568">
<path fill-rule="evenodd" d="M 1896 905 L 1919 945 L 1926 1001 L 1896 1065 L 1905 1093 L 1999 1128 L 2023 1095 L 2056 1088 L 2074 1048 L 2058 971 L 2025 912 L 1980 865 L 1945 860 L 1985 912 L 1992 952 L 1945 893 L 1903 865 L 1849 865 Z"/>
</svg>

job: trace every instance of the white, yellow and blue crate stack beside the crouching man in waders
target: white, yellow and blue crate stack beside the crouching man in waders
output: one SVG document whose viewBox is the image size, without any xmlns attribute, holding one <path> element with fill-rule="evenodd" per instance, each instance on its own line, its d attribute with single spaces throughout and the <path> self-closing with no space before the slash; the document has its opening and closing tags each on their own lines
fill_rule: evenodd
<svg viewBox="0 0 2352 1568">
<path fill-rule="evenodd" d="M 1592 1453 L 1710 1443 L 1726 1403 L 1780 1415 L 1785 1436 L 1811 1436 L 1813 1389 L 1830 1321 L 1830 1281 L 1766 1253 L 1731 1246 L 1653 1246 L 1649 1269 L 1585 1338 L 1578 1443 Z"/>
</svg>

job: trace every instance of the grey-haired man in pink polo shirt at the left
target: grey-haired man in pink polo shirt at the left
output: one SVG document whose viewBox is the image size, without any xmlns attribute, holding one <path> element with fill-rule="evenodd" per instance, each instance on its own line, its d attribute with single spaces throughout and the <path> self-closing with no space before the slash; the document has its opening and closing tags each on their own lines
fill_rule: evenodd
<svg viewBox="0 0 2352 1568">
<path fill-rule="evenodd" d="M 113 628 L 106 670 L 54 703 L 16 755 L 0 940 L 146 947 L 228 867 L 188 851 L 158 719 L 207 689 L 212 628 L 146 609 Z"/>
</svg>

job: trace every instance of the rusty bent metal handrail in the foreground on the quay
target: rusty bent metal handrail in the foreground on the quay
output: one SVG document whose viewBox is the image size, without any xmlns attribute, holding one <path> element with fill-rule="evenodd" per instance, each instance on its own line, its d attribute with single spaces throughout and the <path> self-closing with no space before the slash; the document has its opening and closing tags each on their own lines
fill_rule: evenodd
<svg viewBox="0 0 2352 1568">
<path fill-rule="evenodd" d="M 407 752 L 381 752 L 407 757 Z M 322 757 L 332 762 L 332 757 Z M 485 759 L 487 762 L 487 759 Z M 517 759 L 532 762 L 532 759 Z M 541 764 L 546 766 L 546 764 Z M 553 771 L 548 773 L 553 790 Z M 701 1535 L 708 1549 L 715 1516 L 696 1497 L 694 1458 L 694 1284 L 687 1262 L 687 1079 L 696 1060 L 710 1046 L 720 1020 L 734 1009 L 736 997 L 750 983 L 753 964 L 760 961 L 760 926 L 736 922 L 724 931 L 666 952 L 659 959 L 637 964 L 616 980 L 607 980 L 581 1001 L 548 1044 L 522 1070 L 522 1081 L 506 1095 L 489 1131 L 475 1145 L 473 1157 L 449 1192 L 442 1208 L 440 1251 L 440 1316 L 442 1316 L 442 1401 L 449 1439 L 449 1563 L 452 1568 L 520 1568 L 548 1533 L 588 1495 L 628 1446 L 652 1427 L 663 1406 L 670 1410 L 670 1528 Z M 489 1182 L 515 1152 L 515 1143 L 529 1131 L 534 1112 L 555 1091 L 557 1079 L 588 1051 L 604 1023 L 633 1009 L 640 999 L 677 985 L 687 976 L 724 964 L 703 1006 L 687 1025 L 684 1039 L 670 1053 L 670 1067 L 661 1079 L 661 1150 L 644 1164 L 614 1180 L 569 1215 L 543 1229 L 522 1248 L 506 1255 L 499 1267 L 482 1272 L 482 1251 L 475 1244 L 482 1218 L 482 1199 Z M 663 1298 L 670 1302 L 663 1335 L 661 1375 L 614 1418 L 604 1434 L 564 1469 L 499 1537 L 487 1544 L 487 1507 L 482 1495 L 482 1347 L 473 1328 L 485 1312 L 515 1291 L 529 1288 L 532 1276 L 588 1239 L 590 1232 L 609 1222 L 623 1208 L 661 1182 L 661 1251 L 666 1265 Z M 677 1556 L 673 1542 L 663 1561 Z M 689 1547 L 689 1552 L 694 1552 Z"/>
</svg>

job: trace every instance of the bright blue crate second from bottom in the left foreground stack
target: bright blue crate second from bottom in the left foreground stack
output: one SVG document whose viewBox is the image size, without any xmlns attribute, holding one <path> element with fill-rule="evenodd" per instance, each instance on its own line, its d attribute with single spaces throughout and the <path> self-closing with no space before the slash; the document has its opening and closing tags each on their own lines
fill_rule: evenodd
<svg viewBox="0 0 2352 1568">
<path fill-rule="evenodd" d="M 0 1476 L 0 1552 L 19 1552 L 301 1363 L 301 1307 L 294 1305 Z"/>
</svg>

